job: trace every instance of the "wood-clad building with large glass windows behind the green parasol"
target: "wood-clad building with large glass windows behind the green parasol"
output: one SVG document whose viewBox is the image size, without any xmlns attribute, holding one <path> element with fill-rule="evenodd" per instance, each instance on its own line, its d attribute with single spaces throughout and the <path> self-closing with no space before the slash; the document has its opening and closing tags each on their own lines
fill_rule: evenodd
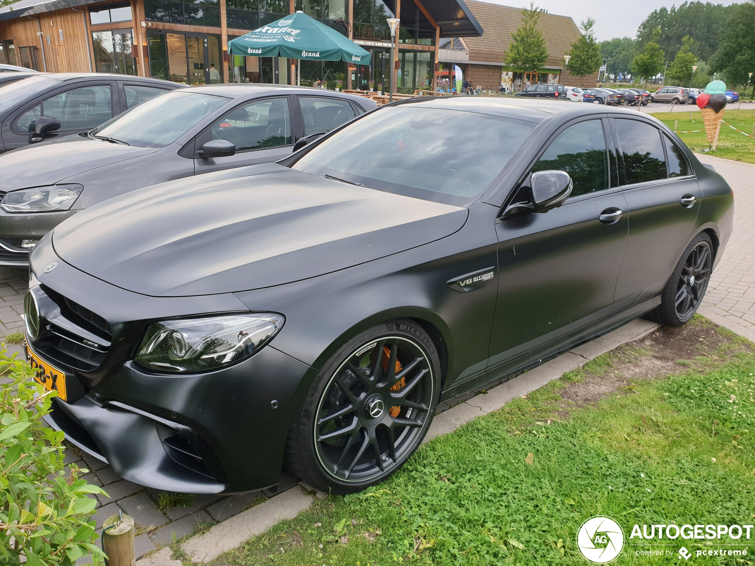
<svg viewBox="0 0 755 566">
<path fill-rule="evenodd" d="M 118 72 L 186 85 L 288 84 L 295 60 L 229 57 L 229 38 L 304 11 L 371 51 L 369 66 L 302 62 L 303 85 L 433 88 L 439 43 L 478 37 L 464 0 L 19 0 L 0 8 L 0 63 L 47 72 Z M 387 17 L 401 20 L 393 65 Z M 390 71 L 393 68 L 393 79 Z"/>
</svg>

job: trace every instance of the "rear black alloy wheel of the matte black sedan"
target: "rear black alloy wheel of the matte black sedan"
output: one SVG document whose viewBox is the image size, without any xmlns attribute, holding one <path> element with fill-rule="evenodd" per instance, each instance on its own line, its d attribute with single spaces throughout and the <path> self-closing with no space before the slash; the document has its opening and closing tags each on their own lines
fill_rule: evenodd
<svg viewBox="0 0 755 566">
<path fill-rule="evenodd" d="M 689 321 L 705 296 L 712 267 L 713 243 L 703 232 L 687 246 L 661 294 L 661 304 L 645 318 L 666 326 L 681 326 Z"/>
</svg>

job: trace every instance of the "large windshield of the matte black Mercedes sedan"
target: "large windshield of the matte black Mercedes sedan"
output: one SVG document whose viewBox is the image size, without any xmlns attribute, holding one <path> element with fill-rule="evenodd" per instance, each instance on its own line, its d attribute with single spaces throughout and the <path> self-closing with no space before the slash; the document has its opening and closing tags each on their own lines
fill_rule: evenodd
<svg viewBox="0 0 755 566">
<path fill-rule="evenodd" d="M 501 172 L 535 125 L 455 109 L 389 106 L 337 131 L 292 168 L 464 205 Z"/>
</svg>

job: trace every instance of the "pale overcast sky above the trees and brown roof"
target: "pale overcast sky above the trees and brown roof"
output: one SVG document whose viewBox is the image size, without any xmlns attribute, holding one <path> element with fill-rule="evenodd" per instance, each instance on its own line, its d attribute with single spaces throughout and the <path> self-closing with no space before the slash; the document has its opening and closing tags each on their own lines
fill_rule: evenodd
<svg viewBox="0 0 755 566">
<path fill-rule="evenodd" d="M 563 2 L 563 0 L 535 0 L 535 5 L 544 8 L 550 14 L 559 14 L 559 16 L 571 16 L 572 20 L 579 26 L 582 20 L 587 16 L 595 18 L 595 35 L 599 41 L 615 37 L 634 38 L 637 33 L 637 27 L 653 10 L 666 6 L 671 8 L 673 4 L 680 5 L 684 0 L 678 2 L 659 2 L 659 0 L 633 0 L 633 2 L 616 2 L 615 0 L 577 0 L 577 2 Z M 712 0 L 716 2 L 716 0 Z M 516 0 L 501 2 L 500 0 L 482 0 L 482 2 L 492 2 L 505 6 L 519 6 Z M 728 6 L 734 0 L 719 0 L 718 4 Z M 527 2 L 521 2 L 521 5 L 529 6 Z"/>
</svg>

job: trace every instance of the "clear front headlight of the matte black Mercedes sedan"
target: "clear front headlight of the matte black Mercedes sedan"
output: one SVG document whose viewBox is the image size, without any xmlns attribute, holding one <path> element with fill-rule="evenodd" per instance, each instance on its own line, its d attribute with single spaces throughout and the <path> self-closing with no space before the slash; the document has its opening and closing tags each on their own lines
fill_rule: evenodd
<svg viewBox="0 0 755 566">
<path fill-rule="evenodd" d="M 242 360 L 270 342 L 285 318 L 272 312 L 155 322 L 134 360 L 159 371 L 208 371 Z"/>
</svg>

